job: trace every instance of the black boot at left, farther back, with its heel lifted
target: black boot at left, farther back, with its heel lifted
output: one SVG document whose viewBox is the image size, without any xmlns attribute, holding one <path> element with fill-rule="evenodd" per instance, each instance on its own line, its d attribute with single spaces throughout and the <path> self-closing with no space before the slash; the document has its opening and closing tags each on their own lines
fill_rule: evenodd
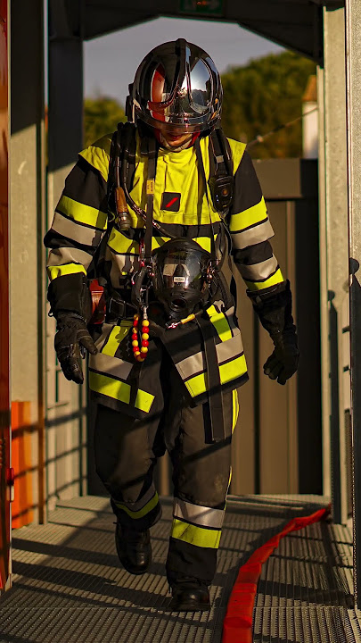
<svg viewBox="0 0 361 643">
<path fill-rule="evenodd" d="M 119 561 L 127 572 L 140 575 L 152 563 L 152 545 L 149 530 L 135 531 L 116 522 L 115 545 Z"/>
</svg>

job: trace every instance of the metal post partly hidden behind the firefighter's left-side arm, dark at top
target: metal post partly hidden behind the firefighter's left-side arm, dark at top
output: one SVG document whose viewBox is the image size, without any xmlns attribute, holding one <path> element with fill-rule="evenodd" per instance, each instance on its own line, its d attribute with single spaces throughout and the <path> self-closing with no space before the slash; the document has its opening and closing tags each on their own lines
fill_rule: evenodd
<svg viewBox="0 0 361 643">
<path fill-rule="evenodd" d="M 48 21 L 48 224 L 64 180 L 83 143 L 82 1 L 50 0 Z M 49 507 L 56 497 L 82 494 L 86 481 L 86 385 L 65 380 L 47 322 L 47 480 Z"/>
</svg>

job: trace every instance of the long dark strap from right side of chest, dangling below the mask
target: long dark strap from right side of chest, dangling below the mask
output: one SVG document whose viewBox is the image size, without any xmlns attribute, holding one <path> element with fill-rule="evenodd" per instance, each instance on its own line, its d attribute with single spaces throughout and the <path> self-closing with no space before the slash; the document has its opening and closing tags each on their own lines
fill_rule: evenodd
<svg viewBox="0 0 361 643">
<path fill-rule="evenodd" d="M 197 138 L 195 141 L 195 153 L 197 155 L 198 171 L 200 171 L 203 187 L 206 193 L 207 203 L 209 207 L 208 185 L 206 173 L 204 171 L 203 159 L 201 156 L 200 141 Z M 209 221 L 210 221 L 210 247 L 211 247 L 211 262 L 214 270 L 217 271 L 217 255 L 216 244 L 214 238 L 214 227 L 209 207 Z M 210 416 L 210 431 L 212 440 L 219 442 L 226 438 L 225 434 L 225 419 L 223 413 L 223 395 L 221 388 L 220 372 L 217 359 L 216 342 L 214 338 L 213 326 L 209 320 L 204 317 L 196 317 L 195 320 L 201 330 L 201 336 L 204 344 L 204 355 L 206 361 L 206 368 L 208 372 L 208 401 L 209 401 L 209 416 Z"/>
</svg>

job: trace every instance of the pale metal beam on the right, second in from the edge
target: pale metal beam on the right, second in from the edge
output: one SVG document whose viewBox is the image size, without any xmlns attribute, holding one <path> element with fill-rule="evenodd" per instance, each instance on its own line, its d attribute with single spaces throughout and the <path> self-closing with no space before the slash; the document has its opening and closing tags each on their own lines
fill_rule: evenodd
<svg viewBox="0 0 361 643">
<path fill-rule="evenodd" d="M 344 9 L 324 7 L 324 190 L 326 280 L 329 293 L 329 365 L 332 504 L 335 522 L 347 522 L 347 457 L 343 408 L 342 312 L 349 296 L 348 188 Z M 324 241 L 326 241 L 324 245 Z M 325 285 L 325 283 L 324 283 Z M 324 319 L 325 321 L 325 319 Z M 347 324 L 348 325 L 348 324 Z M 324 347 L 324 358 L 326 355 Z M 325 372 L 324 372 L 325 375 Z M 324 380 L 326 385 L 327 380 Z M 328 410 L 324 408 L 325 417 Z"/>
</svg>

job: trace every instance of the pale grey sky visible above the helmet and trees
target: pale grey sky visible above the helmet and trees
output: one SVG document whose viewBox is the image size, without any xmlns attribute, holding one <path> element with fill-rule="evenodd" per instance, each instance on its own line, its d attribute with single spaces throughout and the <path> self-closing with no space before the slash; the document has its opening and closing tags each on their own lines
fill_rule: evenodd
<svg viewBox="0 0 361 643">
<path fill-rule="evenodd" d="M 176 38 L 185 38 L 205 49 L 220 73 L 251 58 L 283 51 L 283 47 L 234 23 L 157 18 L 85 43 L 85 96 L 111 96 L 125 104 L 127 86 L 145 54 Z"/>
</svg>

